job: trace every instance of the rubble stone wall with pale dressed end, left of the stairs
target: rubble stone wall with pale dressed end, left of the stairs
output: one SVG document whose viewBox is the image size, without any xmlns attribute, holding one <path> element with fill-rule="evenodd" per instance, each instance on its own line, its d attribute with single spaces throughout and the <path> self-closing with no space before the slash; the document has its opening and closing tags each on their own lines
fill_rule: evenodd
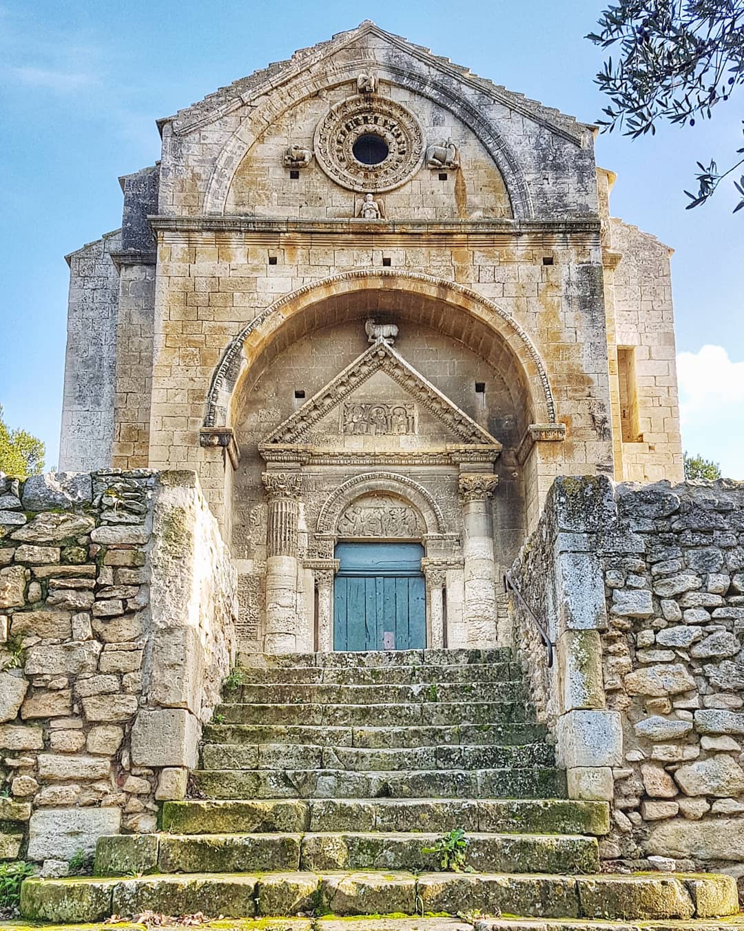
<svg viewBox="0 0 744 931">
<path fill-rule="evenodd" d="M 91 851 L 182 797 L 234 651 L 193 473 L 0 476 L 0 856 Z"/>
</svg>

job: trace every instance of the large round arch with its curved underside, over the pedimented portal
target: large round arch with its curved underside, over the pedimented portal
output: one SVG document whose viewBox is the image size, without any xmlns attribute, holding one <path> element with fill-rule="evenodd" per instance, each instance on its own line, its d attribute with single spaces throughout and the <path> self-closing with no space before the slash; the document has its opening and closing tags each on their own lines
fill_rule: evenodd
<svg viewBox="0 0 744 931">
<path fill-rule="evenodd" d="M 311 313 L 319 305 L 343 301 L 351 295 L 364 297 L 372 313 L 384 299 L 382 309 L 393 311 L 401 322 L 405 322 L 406 304 L 414 300 L 438 305 L 445 311 L 439 314 L 443 330 L 456 319 L 449 311 L 457 308 L 465 315 L 463 330 L 470 322 L 498 338 L 516 376 L 524 383 L 528 415 L 542 424 L 555 421 L 555 404 L 545 365 L 535 344 L 510 314 L 475 291 L 445 278 L 381 268 L 354 269 L 322 278 L 286 294 L 246 324 L 228 345 L 212 376 L 204 426 L 233 427 L 238 413 L 236 398 L 240 397 L 241 385 L 261 353 L 283 330 L 290 329 L 298 317 Z"/>
</svg>

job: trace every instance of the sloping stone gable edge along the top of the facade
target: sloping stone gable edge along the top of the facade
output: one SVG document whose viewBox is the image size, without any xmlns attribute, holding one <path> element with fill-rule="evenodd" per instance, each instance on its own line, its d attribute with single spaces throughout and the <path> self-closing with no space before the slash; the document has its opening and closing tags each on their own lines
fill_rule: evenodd
<svg viewBox="0 0 744 931">
<path fill-rule="evenodd" d="M 580 142 L 582 132 L 588 128 L 587 124 L 580 123 L 575 116 L 565 115 L 553 107 L 545 106 L 540 101 L 529 100 L 524 94 L 515 93 L 501 85 L 494 84 L 487 78 L 473 74 L 469 68 L 455 64 L 443 55 L 433 54 L 429 48 L 409 42 L 401 35 L 386 32 L 372 20 L 365 20 L 355 29 L 336 34 L 326 42 L 299 48 L 290 59 L 274 61 L 265 68 L 259 68 L 253 74 L 248 74 L 225 88 L 219 88 L 202 101 L 184 107 L 176 115 L 158 120 L 158 125 L 162 128 L 165 123 L 172 123 L 177 135 L 191 132 L 231 113 L 238 107 L 251 104 L 273 88 L 286 85 L 298 74 L 323 66 L 324 61 L 331 59 L 339 51 L 348 56 L 354 47 L 359 47 L 360 55 L 364 58 L 365 47 L 379 43 L 391 48 L 395 61 L 399 64 L 407 57 L 412 70 L 417 65 L 432 68 L 439 72 L 445 84 L 451 85 L 453 82 L 458 82 L 470 86 L 480 93 L 485 93 L 492 100 L 503 103 L 510 110 L 573 142 Z"/>
</svg>

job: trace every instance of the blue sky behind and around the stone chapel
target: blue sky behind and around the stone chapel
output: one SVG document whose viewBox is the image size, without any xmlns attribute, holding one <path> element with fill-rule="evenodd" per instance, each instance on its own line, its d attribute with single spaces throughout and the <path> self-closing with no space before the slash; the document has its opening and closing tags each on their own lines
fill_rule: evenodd
<svg viewBox="0 0 744 931">
<path fill-rule="evenodd" d="M 46 441 L 57 462 L 67 265 L 62 256 L 121 223 L 119 175 L 159 156 L 155 119 L 373 19 L 476 74 L 591 122 L 601 53 L 583 35 L 590 0 L 339 0 L 174 4 L 0 0 L 0 403 L 8 425 Z M 744 479 L 744 214 L 727 185 L 685 211 L 697 159 L 728 164 L 742 95 L 711 123 L 597 143 L 618 172 L 612 211 L 654 233 L 672 260 L 684 446 Z"/>
</svg>

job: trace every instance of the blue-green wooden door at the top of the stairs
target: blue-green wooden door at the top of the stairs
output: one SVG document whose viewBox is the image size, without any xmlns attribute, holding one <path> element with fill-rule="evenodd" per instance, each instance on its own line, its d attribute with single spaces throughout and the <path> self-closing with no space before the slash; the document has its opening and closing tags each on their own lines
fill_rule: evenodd
<svg viewBox="0 0 744 931">
<path fill-rule="evenodd" d="M 333 602 L 336 650 L 421 650 L 426 592 L 418 543 L 339 543 Z"/>
</svg>

